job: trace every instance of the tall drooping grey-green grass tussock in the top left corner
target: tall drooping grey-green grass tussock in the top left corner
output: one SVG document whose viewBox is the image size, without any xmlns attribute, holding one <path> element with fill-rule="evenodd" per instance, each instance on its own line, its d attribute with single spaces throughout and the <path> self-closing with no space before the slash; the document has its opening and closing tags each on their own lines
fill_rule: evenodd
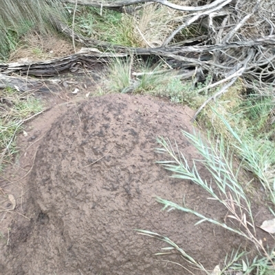
<svg viewBox="0 0 275 275">
<path fill-rule="evenodd" d="M 53 31 L 54 20 L 66 21 L 65 10 L 57 0 L 3 0 L 0 15 L 0 60 L 6 60 L 28 32 L 47 34 Z"/>
</svg>

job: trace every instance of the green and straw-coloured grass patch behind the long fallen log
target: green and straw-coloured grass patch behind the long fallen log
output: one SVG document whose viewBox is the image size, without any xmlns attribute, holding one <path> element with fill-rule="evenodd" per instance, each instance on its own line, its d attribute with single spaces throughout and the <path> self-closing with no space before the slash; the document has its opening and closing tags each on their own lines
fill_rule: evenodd
<svg viewBox="0 0 275 275">
<path fill-rule="evenodd" d="M 67 8 L 73 14 L 74 8 Z M 137 5 L 131 8 L 135 9 Z M 181 25 L 183 14 L 184 12 L 158 3 L 147 3 L 131 14 L 94 7 L 78 7 L 75 30 L 89 38 L 113 45 L 160 47 L 170 33 Z M 196 27 L 191 28 L 192 32 L 188 30 L 183 35 L 185 39 L 199 32 Z"/>
</svg>

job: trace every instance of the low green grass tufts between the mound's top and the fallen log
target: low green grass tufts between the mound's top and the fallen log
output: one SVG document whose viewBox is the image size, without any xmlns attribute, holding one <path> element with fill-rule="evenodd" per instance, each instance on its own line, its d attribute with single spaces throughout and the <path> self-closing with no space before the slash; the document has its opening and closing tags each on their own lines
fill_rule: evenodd
<svg viewBox="0 0 275 275">
<path fill-rule="evenodd" d="M 104 93 L 140 93 L 159 97 L 168 97 L 177 104 L 199 107 L 205 100 L 205 94 L 197 93 L 207 86 L 205 83 L 195 86 L 192 81 L 181 80 L 177 71 L 166 69 L 166 64 L 139 60 L 137 58 L 115 58 L 104 76 Z"/>
</svg>

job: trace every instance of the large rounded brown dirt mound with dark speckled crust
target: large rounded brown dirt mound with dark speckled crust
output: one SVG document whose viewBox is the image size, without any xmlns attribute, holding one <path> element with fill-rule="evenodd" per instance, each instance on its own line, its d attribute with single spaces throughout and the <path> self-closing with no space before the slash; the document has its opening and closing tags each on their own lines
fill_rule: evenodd
<svg viewBox="0 0 275 275">
<path fill-rule="evenodd" d="M 240 240 L 193 215 L 161 211 L 155 195 L 222 220 L 226 215 L 197 185 L 170 178 L 157 160 L 156 137 L 175 139 L 192 162 L 190 109 L 129 95 L 92 98 L 52 125 L 29 179 L 34 218 L 12 239 L 5 274 L 186 274 L 154 256 L 167 245 L 135 228 L 169 237 L 210 270 Z M 206 171 L 199 168 L 201 176 Z M 8 258 L 7 258 L 8 259 Z M 167 261 L 168 260 L 168 261 Z M 189 268 L 189 267 L 188 267 Z M 195 274 L 199 274 L 196 270 Z"/>
</svg>

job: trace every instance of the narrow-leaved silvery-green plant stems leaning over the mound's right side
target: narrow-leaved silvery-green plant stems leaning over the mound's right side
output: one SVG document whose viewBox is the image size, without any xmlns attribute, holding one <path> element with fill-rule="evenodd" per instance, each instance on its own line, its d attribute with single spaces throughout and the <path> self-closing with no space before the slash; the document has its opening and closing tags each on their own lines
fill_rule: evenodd
<svg viewBox="0 0 275 275">
<path fill-rule="evenodd" d="M 158 139 L 158 142 L 162 145 L 161 148 L 158 148 L 158 151 L 168 153 L 173 160 L 160 163 L 162 163 L 166 169 L 174 172 L 173 177 L 192 180 L 192 182 L 195 182 L 208 191 L 214 200 L 217 200 L 228 209 L 230 213 L 228 218 L 232 219 L 232 222 L 237 222 L 239 226 L 238 228 L 228 226 L 228 224 L 203 216 L 190 208 L 179 206 L 161 198 L 157 198 L 157 201 L 164 204 L 164 208 L 179 209 L 197 215 L 197 217 L 200 218 L 197 224 L 206 221 L 211 222 L 212 224 L 216 224 L 217 226 L 221 226 L 245 237 L 245 239 L 252 241 L 259 252 L 263 252 L 267 260 L 272 263 L 272 267 L 275 267 L 275 263 L 272 261 L 270 253 L 264 248 L 261 240 L 256 238 L 256 227 L 254 224 L 251 202 L 238 179 L 239 169 L 241 169 L 241 167 L 234 172 L 235 169 L 232 163 L 233 154 L 230 153 L 230 150 L 225 148 L 222 137 L 220 137 L 219 143 L 213 145 L 210 139 L 208 139 L 208 143 L 203 142 L 203 139 L 201 139 L 201 136 L 198 134 L 189 134 L 188 132 L 183 132 L 183 134 L 203 157 L 203 160 L 198 161 L 210 171 L 214 184 L 218 187 L 217 191 L 212 189 L 210 183 L 201 179 L 197 171 L 195 160 L 193 160 L 192 168 L 190 168 L 184 154 L 179 152 L 178 148 L 174 151 L 170 142 L 166 142 L 164 139 Z"/>
</svg>

